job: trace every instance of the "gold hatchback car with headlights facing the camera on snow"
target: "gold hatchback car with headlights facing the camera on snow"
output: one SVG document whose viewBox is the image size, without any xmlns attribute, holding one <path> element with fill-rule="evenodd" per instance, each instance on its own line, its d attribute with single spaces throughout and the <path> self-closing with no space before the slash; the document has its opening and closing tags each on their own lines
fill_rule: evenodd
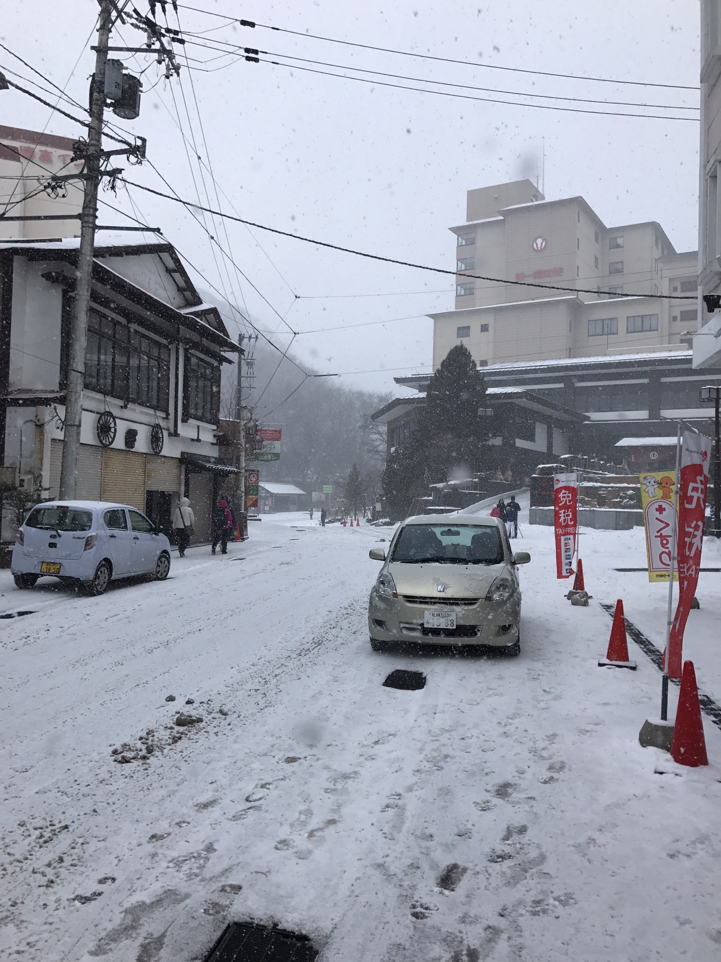
<svg viewBox="0 0 721 962">
<path fill-rule="evenodd" d="M 374 651 L 413 642 L 492 646 L 520 653 L 521 592 L 518 565 L 498 519 L 476 515 L 407 518 L 388 546 L 373 548 L 383 561 L 368 603 Z"/>
</svg>

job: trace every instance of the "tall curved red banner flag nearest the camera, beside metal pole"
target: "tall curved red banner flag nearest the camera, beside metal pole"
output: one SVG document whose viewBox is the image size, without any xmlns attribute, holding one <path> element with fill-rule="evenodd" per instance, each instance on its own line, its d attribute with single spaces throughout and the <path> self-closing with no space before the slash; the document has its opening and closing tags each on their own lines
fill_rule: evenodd
<svg viewBox="0 0 721 962">
<path fill-rule="evenodd" d="M 679 527 L 676 550 L 679 559 L 679 604 L 668 641 L 669 678 L 681 677 L 684 629 L 699 582 L 710 452 L 709 438 L 705 438 L 703 434 L 684 431 L 679 472 Z"/>
</svg>

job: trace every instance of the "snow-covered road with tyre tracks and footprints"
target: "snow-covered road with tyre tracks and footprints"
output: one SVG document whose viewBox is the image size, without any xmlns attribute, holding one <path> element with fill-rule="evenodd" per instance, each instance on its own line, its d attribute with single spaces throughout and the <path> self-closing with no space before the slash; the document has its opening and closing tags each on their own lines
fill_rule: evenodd
<svg viewBox="0 0 721 962">
<path fill-rule="evenodd" d="M 633 644 L 638 671 L 596 666 L 599 601 L 662 641 L 662 591 L 612 570 L 643 566 L 642 532 L 584 533 L 583 609 L 524 526 L 514 660 L 371 651 L 389 531 L 265 518 L 102 598 L 0 572 L 0 614 L 35 612 L 0 621 L 0 956 L 190 962 L 252 918 L 324 962 L 721 957 L 721 732 L 708 769 L 655 773 L 659 671 Z M 699 596 L 688 648 L 721 700 L 721 574 Z M 384 688 L 395 668 L 426 687 Z"/>
</svg>

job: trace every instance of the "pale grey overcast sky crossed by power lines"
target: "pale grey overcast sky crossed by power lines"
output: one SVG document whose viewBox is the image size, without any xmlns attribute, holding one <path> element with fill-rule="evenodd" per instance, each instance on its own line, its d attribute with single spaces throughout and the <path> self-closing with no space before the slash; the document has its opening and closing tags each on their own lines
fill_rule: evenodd
<svg viewBox="0 0 721 962">
<path fill-rule="evenodd" d="M 89 44 L 94 42 L 90 36 L 96 0 L 62 0 L 61 4 L 58 0 L 4 0 L 2 6 L 2 43 L 86 103 L 87 77 L 94 63 Z M 147 0 L 136 0 L 136 6 L 145 13 Z M 170 6 L 168 0 L 168 22 L 177 27 Z M 196 13 L 187 6 L 208 13 Z M 695 87 L 699 77 L 696 0 L 634 0 L 632 4 L 628 0 L 604 4 L 490 0 L 480 6 L 459 0 L 394 0 L 391 4 L 188 0 L 187 6 L 179 8 L 182 28 L 203 32 L 202 42 L 207 45 L 225 39 L 270 55 L 477 88 L 645 104 L 698 104 L 694 90 L 590 83 L 435 63 L 260 27 L 241 28 L 210 15 L 258 19 L 302 35 L 460 61 Z M 160 10 L 159 19 L 162 22 Z M 118 45 L 135 46 L 143 40 L 144 35 L 130 26 L 112 37 Z M 199 194 L 204 202 L 210 197 L 212 206 L 217 204 L 210 175 L 204 171 L 204 184 L 194 160 L 200 154 L 212 169 L 223 210 L 233 213 L 235 208 L 249 220 L 320 241 L 453 269 L 455 245 L 448 227 L 465 219 L 465 191 L 522 176 L 535 180 L 545 138 L 548 199 L 582 194 L 607 224 L 658 220 L 677 250 L 696 249 L 696 122 L 493 104 L 231 60 L 190 43 L 186 51 L 197 59 L 191 66 L 209 62 L 205 66 L 211 72 L 192 69 L 189 76 L 184 67 L 180 82 L 165 82 L 159 79 L 162 75 L 152 58 L 139 55 L 128 60 L 136 72 L 150 64 L 143 75 L 146 92 L 139 118 L 118 121 L 118 126 L 147 138 L 148 157 L 184 198 L 194 200 Z M 184 63 L 184 58 L 180 61 Z M 338 72 L 335 66 L 297 61 L 296 67 L 300 66 Z M 27 67 L 0 50 L 3 67 L 33 77 Z M 378 80 L 420 86 L 376 75 Z M 471 97 L 506 96 L 455 90 Z M 546 102 L 589 109 L 571 101 Z M 80 132 L 71 120 L 51 115 L 17 91 L 0 92 L 0 105 L 2 123 L 70 137 Z M 659 113 L 644 108 L 607 109 Z M 179 126 L 190 145 L 192 171 Z M 137 183 L 167 190 L 150 165 L 126 165 L 126 173 Z M 261 230 L 251 234 L 231 222 L 225 227 L 219 222 L 213 225 L 208 219 L 209 230 L 232 252 L 247 275 L 245 280 L 184 208 L 140 190 L 131 192 L 137 215 L 161 227 L 208 282 L 249 313 L 273 342 L 285 348 L 290 338 L 280 316 L 294 331 L 312 332 L 299 334 L 293 342 L 291 350 L 301 362 L 316 370 L 342 372 L 344 383 L 372 391 L 397 390 L 394 374 L 429 369 L 433 324 L 424 315 L 453 308 L 452 277 L 374 263 Z M 102 197 L 133 213 L 123 190 L 118 190 L 117 200 L 112 194 Z M 123 222 L 107 208 L 101 217 L 106 223 Z M 387 323 L 370 323 L 376 321 Z M 318 331 L 321 328 L 326 330 Z M 235 336 L 237 329 L 231 333 Z"/>
</svg>

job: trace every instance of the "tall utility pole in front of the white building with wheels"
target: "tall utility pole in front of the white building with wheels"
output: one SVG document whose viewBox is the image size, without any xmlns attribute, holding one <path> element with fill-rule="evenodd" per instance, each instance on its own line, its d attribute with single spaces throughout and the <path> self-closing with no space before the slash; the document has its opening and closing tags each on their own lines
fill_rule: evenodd
<svg viewBox="0 0 721 962">
<path fill-rule="evenodd" d="M 75 305 L 70 328 L 67 391 L 65 400 L 65 428 L 62 444 L 60 496 L 62 500 L 75 497 L 80 454 L 80 427 L 83 418 L 83 387 L 86 372 L 87 313 L 90 306 L 90 279 L 95 247 L 95 222 L 98 207 L 98 185 L 103 149 L 103 108 L 105 106 L 105 68 L 112 27 L 111 0 L 99 0 L 100 22 L 95 53 L 95 72 L 90 87 L 90 123 L 87 131 L 85 157 L 85 193 L 80 220 L 80 251 L 78 253 Z"/>
</svg>

